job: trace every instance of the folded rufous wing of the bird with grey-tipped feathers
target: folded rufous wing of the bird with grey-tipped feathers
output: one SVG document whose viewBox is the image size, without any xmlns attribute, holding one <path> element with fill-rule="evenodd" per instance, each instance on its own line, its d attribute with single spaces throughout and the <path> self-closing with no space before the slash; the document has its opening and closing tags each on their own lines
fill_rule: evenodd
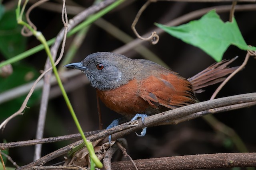
<svg viewBox="0 0 256 170">
<path fill-rule="evenodd" d="M 196 103 L 191 83 L 175 72 L 149 76 L 140 82 L 139 89 L 138 95 L 153 108 L 175 109 Z"/>
</svg>

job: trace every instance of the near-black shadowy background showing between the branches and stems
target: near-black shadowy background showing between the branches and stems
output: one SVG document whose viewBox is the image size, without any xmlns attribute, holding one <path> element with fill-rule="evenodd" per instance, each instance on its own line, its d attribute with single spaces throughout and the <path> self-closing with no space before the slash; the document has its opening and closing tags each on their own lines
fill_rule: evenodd
<svg viewBox="0 0 256 170">
<path fill-rule="evenodd" d="M 75 2 L 83 7 L 89 7 L 92 4 L 91 0 Z M 4 1 L 4 3 L 7 3 L 7 1 Z M 69 3 L 71 2 L 67 2 L 67 4 Z M 103 18 L 113 25 L 116 25 L 116 27 L 128 35 L 136 38 L 130 25 L 144 3 L 144 0 L 125 2 L 120 7 L 106 14 Z M 143 35 L 144 33 L 156 29 L 154 22 L 164 24 L 194 10 L 225 4 L 231 3 L 187 3 L 165 1 L 152 3 L 142 14 L 136 25 L 136 29 L 138 33 Z M 228 21 L 229 13 L 222 13 L 220 16 L 222 20 Z M 72 18 L 73 15 L 69 15 L 68 17 Z M 235 18 L 246 43 L 256 46 L 256 22 L 254 20 L 256 18 L 256 12 L 235 12 Z M 46 39 L 55 37 L 63 26 L 59 12 L 51 12 L 43 8 L 36 8 L 33 10 L 30 14 L 30 19 L 37 26 L 37 29 L 42 31 Z M 72 43 L 72 39 L 73 37 L 67 39 L 65 51 L 67 51 L 70 43 Z M 36 38 L 29 37 L 27 49 L 39 44 L 40 43 Z M 160 41 L 156 45 L 150 45 L 148 42 L 142 44 L 148 47 L 148 49 L 168 64 L 168 66 L 185 78 L 194 76 L 194 74 L 214 63 L 214 60 L 200 49 L 187 45 L 180 39 L 176 39 L 167 33 L 160 35 Z M 113 51 L 123 45 L 124 43 L 120 42 L 109 33 L 106 33 L 106 31 L 98 26 L 92 24 L 73 61 L 81 61 L 90 53 Z M 126 55 L 126 57 L 142 58 L 142 56 L 133 49 L 122 54 Z M 246 51 L 230 46 L 226 53 L 224 53 L 223 58 L 231 59 L 237 55 L 239 58 L 232 63 L 232 66 L 238 66 L 242 64 Z M 38 72 L 39 70 L 44 69 L 45 61 L 46 54 L 44 51 L 40 51 L 24 59 L 25 63 L 33 65 Z M 256 60 L 251 57 L 244 70 L 236 74 L 236 76 L 224 86 L 217 97 L 255 92 L 255 65 Z M 86 79 L 85 75 L 80 77 L 81 79 Z M 82 125 L 82 129 L 84 131 L 97 130 L 99 123 L 95 90 L 90 87 L 90 84 L 82 84 L 79 80 L 76 81 L 73 79 L 64 80 L 64 85 L 70 81 L 74 81 L 72 82 L 74 85 L 81 84 L 80 87 L 77 87 L 74 90 L 69 90 L 68 96 Z M 198 99 L 200 101 L 209 100 L 217 87 L 218 85 L 214 85 L 205 88 L 204 90 L 206 90 L 206 92 L 198 94 Z M 39 106 L 40 100 L 38 99 L 36 104 L 29 106 L 30 109 L 26 109 L 23 116 L 18 116 L 10 121 L 6 126 L 6 129 L 1 132 L 0 139 L 6 139 L 8 142 L 34 139 Z M 249 152 L 256 152 L 255 109 L 256 107 L 254 106 L 215 115 L 219 121 L 233 128 L 236 133 L 238 133 L 246 147 L 248 147 Z M 101 110 L 104 128 L 106 128 L 113 119 L 120 117 L 120 115 L 106 108 L 102 103 Z M 49 101 L 44 137 L 68 135 L 72 133 L 78 133 L 78 131 L 63 97 L 60 94 L 52 97 Z M 130 154 L 133 159 L 239 152 L 236 147 L 234 147 L 234 144 L 229 137 L 214 131 L 202 118 L 180 123 L 178 125 L 150 127 L 148 128 L 145 137 L 140 138 L 134 133 L 131 133 L 125 136 L 125 138 L 128 141 L 128 154 Z M 42 155 L 48 154 L 71 142 L 72 141 L 64 141 L 43 145 Z M 10 149 L 9 152 L 9 155 L 12 156 L 14 161 L 19 165 L 24 165 L 32 162 L 34 147 L 14 148 Z M 62 158 L 60 158 L 60 160 L 62 160 Z"/>
</svg>

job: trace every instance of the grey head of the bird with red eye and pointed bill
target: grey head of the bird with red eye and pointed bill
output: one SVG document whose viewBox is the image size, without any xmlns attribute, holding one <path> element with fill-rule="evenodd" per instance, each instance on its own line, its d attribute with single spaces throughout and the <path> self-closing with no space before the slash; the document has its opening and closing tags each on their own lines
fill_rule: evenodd
<svg viewBox="0 0 256 170">
<path fill-rule="evenodd" d="M 111 90 L 127 84 L 136 73 L 132 59 L 108 52 L 90 54 L 83 61 L 64 67 L 82 70 L 91 86 L 99 90 Z"/>
</svg>

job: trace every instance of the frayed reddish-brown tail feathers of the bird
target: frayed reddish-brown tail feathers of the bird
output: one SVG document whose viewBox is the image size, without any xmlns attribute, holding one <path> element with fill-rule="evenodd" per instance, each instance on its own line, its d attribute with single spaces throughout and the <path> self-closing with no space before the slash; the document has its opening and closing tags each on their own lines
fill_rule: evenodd
<svg viewBox="0 0 256 170">
<path fill-rule="evenodd" d="M 224 81 L 224 76 L 234 72 L 234 70 L 238 68 L 228 67 L 228 64 L 232 63 L 235 59 L 237 59 L 237 57 L 231 60 L 222 60 L 219 63 L 214 63 L 195 76 L 188 78 L 188 81 L 191 82 L 194 91 L 196 93 L 201 93 L 204 91 L 202 88 Z"/>
</svg>

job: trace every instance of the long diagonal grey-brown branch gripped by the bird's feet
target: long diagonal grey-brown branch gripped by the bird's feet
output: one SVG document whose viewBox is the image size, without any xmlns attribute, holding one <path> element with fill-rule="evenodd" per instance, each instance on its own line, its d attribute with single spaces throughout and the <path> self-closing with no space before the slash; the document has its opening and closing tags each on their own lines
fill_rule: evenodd
<svg viewBox="0 0 256 170">
<path fill-rule="evenodd" d="M 224 107 L 224 106 L 230 106 L 230 105 L 234 105 L 234 104 L 241 104 L 241 103 L 246 103 L 246 102 L 255 102 L 255 101 L 256 101 L 256 93 L 240 94 L 240 95 L 236 95 L 236 96 L 218 98 L 218 99 L 214 99 L 214 100 L 191 104 L 191 105 L 184 106 L 184 107 L 179 107 L 177 109 L 165 111 L 163 113 L 159 113 L 156 115 L 146 117 L 144 123 L 147 126 L 153 126 L 155 124 L 164 122 L 166 120 L 179 119 L 181 117 L 184 117 L 184 116 L 187 116 L 192 113 L 199 112 L 199 111 L 204 111 L 204 110 L 214 109 L 214 108 Z M 89 141 L 93 142 L 93 141 L 96 141 L 98 139 L 101 139 L 101 138 L 107 137 L 108 135 L 113 134 L 112 139 L 115 140 L 124 135 L 132 133 L 136 130 L 142 129 L 143 127 L 145 127 L 144 123 L 142 123 L 141 119 L 139 119 L 138 121 L 130 121 L 128 123 L 123 123 L 121 125 L 110 128 L 108 130 L 101 131 L 100 133 L 92 135 L 92 136 L 88 137 L 87 139 Z M 106 139 L 106 141 L 108 141 L 108 139 Z M 25 166 L 22 166 L 18 169 L 26 169 L 26 168 L 29 168 L 32 166 L 43 165 L 46 162 L 53 160 L 54 158 L 57 158 L 58 156 L 61 156 L 65 153 L 69 152 L 74 146 L 80 145 L 81 143 L 82 143 L 82 140 L 77 141 L 76 143 L 73 143 L 73 144 L 63 147 L 61 149 L 58 149 L 46 156 L 43 156 L 40 159 L 38 159 L 30 164 L 27 164 Z"/>
</svg>

